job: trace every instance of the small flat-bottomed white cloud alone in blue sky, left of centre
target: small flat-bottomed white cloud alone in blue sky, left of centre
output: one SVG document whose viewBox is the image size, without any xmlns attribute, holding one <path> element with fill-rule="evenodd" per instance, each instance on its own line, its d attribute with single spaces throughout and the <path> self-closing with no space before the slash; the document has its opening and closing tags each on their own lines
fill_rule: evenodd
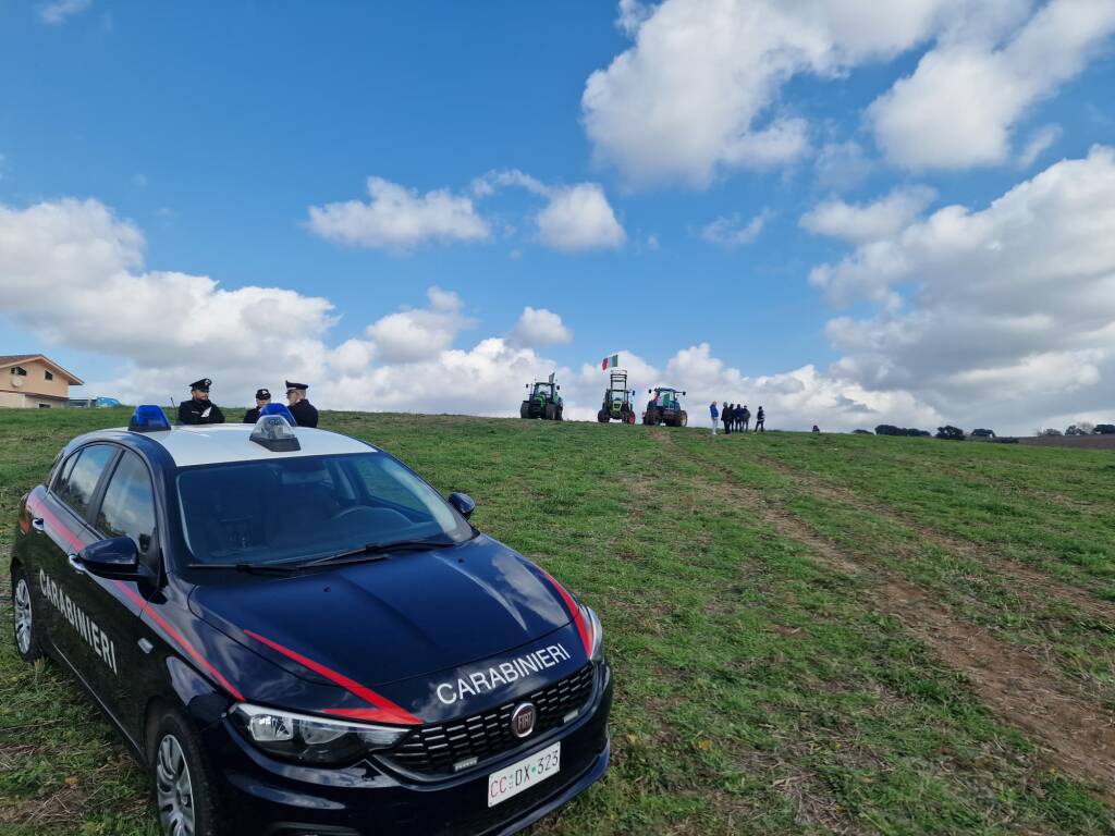
<svg viewBox="0 0 1115 836">
<path fill-rule="evenodd" d="M 439 188 L 426 194 L 368 178 L 368 203 L 311 206 L 309 227 L 330 241 L 403 252 L 430 241 L 483 241 L 491 235 L 473 201 Z"/>
</svg>

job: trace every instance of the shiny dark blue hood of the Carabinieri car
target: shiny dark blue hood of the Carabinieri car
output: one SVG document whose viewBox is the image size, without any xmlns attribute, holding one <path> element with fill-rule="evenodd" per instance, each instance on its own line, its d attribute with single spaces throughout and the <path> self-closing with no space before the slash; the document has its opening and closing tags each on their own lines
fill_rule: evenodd
<svg viewBox="0 0 1115 836">
<path fill-rule="evenodd" d="M 571 621 L 536 566 L 479 535 L 452 548 L 197 586 L 191 611 L 295 675 L 382 686 L 496 657 Z"/>
</svg>

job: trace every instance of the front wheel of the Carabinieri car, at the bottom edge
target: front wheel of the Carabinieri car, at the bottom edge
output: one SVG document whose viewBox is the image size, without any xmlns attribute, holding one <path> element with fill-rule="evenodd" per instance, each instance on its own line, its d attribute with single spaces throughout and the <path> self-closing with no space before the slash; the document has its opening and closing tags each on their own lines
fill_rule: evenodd
<svg viewBox="0 0 1115 836">
<path fill-rule="evenodd" d="M 163 836 L 221 836 L 221 810 L 213 770 L 193 726 L 167 711 L 155 726 L 147 751 Z"/>
</svg>

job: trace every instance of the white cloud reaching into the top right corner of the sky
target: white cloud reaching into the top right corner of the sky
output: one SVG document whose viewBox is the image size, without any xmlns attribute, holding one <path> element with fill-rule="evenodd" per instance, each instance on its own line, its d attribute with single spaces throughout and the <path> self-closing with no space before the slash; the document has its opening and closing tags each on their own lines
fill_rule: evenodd
<svg viewBox="0 0 1115 836">
<path fill-rule="evenodd" d="M 1111 0 L 1050 0 L 1010 40 L 938 45 L 867 110 L 888 158 L 910 168 L 1004 163 L 1035 103 L 1078 75 L 1115 31 Z"/>
</svg>

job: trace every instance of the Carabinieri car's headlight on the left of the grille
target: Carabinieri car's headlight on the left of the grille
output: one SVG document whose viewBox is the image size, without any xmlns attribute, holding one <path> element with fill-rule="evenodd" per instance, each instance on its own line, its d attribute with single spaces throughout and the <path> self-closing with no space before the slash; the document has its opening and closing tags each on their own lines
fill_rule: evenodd
<svg viewBox="0 0 1115 836">
<path fill-rule="evenodd" d="M 229 712 L 241 733 L 263 751 L 299 764 L 352 762 L 377 749 L 389 749 L 410 729 L 330 720 L 240 702 Z"/>
</svg>

